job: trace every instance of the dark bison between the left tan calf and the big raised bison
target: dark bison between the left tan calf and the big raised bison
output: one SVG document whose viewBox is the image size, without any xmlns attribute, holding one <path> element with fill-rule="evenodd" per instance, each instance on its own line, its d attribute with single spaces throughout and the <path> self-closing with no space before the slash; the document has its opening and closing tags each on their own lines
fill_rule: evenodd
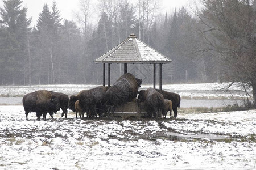
<svg viewBox="0 0 256 170">
<path fill-rule="evenodd" d="M 107 89 L 108 88 L 105 86 L 99 86 L 79 93 L 79 106 L 82 112 L 86 111 L 87 117 L 97 117 L 96 111 L 104 109 Z M 102 105 L 99 103 L 102 103 Z M 98 108 L 96 108 L 96 106 Z"/>
</svg>

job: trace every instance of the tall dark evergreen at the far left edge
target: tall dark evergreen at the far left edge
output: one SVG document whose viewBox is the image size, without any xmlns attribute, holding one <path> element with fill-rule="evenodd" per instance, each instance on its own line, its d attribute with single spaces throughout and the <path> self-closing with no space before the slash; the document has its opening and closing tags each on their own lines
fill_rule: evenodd
<svg viewBox="0 0 256 170">
<path fill-rule="evenodd" d="M 27 19 L 27 8 L 21 7 L 22 1 L 3 1 L 0 8 L 0 22 L 3 24 L 3 39 L 7 43 L 3 45 L 5 55 L 2 58 L 5 63 L 2 74 L 3 82 L 7 84 L 26 83 L 27 35 L 28 25 L 31 19 Z M 5 33 L 4 33 L 5 32 Z"/>
</svg>

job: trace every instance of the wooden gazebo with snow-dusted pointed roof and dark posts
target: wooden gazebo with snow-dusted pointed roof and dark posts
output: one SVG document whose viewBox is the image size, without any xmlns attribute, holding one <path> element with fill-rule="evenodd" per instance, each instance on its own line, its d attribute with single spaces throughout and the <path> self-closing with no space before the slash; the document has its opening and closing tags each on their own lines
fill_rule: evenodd
<svg viewBox="0 0 256 170">
<path fill-rule="evenodd" d="M 131 34 L 126 40 L 115 46 L 109 52 L 103 54 L 94 61 L 103 63 L 103 86 L 105 86 L 105 70 L 108 63 L 108 86 L 110 87 L 110 65 L 112 63 L 121 63 L 124 65 L 123 73 L 127 73 L 128 64 L 152 64 L 154 88 L 156 84 L 156 64 L 159 64 L 159 89 L 162 90 L 162 65 L 170 63 L 171 59 L 163 56 L 149 45 L 139 40 L 134 34 Z"/>
</svg>

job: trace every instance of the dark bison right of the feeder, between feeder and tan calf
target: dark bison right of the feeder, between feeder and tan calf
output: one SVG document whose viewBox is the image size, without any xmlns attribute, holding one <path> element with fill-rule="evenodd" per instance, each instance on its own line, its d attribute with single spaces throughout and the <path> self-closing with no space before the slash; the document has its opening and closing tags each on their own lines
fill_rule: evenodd
<svg viewBox="0 0 256 170">
<path fill-rule="evenodd" d="M 139 100 L 146 102 L 146 111 L 148 117 L 154 116 L 160 118 L 164 107 L 163 95 L 157 92 L 154 88 L 139 91 Z"/>
</svg>

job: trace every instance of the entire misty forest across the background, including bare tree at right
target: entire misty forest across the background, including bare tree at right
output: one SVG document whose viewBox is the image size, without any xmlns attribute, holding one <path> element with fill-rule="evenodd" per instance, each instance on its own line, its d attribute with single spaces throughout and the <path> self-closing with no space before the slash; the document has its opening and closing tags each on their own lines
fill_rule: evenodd
<svg viewBox="0 0 256 170">
<path fill-rule="evenodd" d="M 76 20 L 62 18 L 56 2 L 42 7 L 35 25 L 21 0 L 0 7 L 0 85 L 101 84 L 102 65 L 94 61 L 134 33 L 170 58 L 163 83 L 234 82 L 256 96 L 256 2 L 200 0 L 199 6 L 160 10 L 159 0 L 80 0 Z M 122 65 L 112 64 L 112 81 Z M 152 84 L 151 65 L 139 69 Z"/>
</svg>

